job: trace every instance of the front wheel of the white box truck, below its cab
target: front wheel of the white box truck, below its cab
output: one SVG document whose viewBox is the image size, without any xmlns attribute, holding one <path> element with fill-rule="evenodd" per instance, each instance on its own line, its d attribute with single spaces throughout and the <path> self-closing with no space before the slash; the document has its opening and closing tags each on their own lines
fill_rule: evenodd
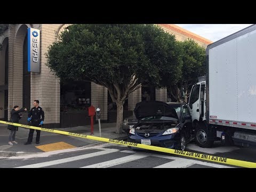
<svg viewBox="0 0 256 192">
<path fill-rule="evenodd" d="M 211 137 L 209 129 L 204 124 L 196 124 L 195 140 L 199 147 L 210 148 L 213 146 L 213 140 L 209 140 Z"/>
</svg>

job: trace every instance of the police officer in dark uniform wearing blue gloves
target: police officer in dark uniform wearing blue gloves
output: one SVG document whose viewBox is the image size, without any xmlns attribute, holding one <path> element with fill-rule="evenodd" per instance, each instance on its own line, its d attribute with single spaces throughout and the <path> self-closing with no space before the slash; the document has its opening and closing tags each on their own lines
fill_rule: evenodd
<svg viewBox="0 0 256 192">
<path fill-rule="evenodd" d="M 37 127 L 42 126 L 44 123 L 44 111 L 42 107 L 39 107 L 38 100 L 34 100 L 33 105 L 34 107 L 31 108 L 30 111 L 28 112 L 29 125 L 37 126 Z M 24 143 L 25 145 L 31 144 L 33 140 L 34 131 L 35 131 L 34 129 L 29 130 L 28 141 Z M 36 144 L 39 144 L 40 133 L 41 133 L 41 130 L 36 130 Z"/>
</svg>

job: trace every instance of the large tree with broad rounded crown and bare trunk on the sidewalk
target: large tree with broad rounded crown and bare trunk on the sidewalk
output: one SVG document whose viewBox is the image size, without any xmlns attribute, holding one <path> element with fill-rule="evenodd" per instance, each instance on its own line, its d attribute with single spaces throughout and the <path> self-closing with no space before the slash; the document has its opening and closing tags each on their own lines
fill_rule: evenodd
<svg viewBox="0 0 256 192">
<path fill-rule="evenodd" d="M 117 105 L 120 133 L 126 96 L 146 81 L 159 86 L 174 44 L 174 36 L 156 25 L 71 25 L 49 46 L 46 65 L 60 79 L 107 87 Z"/>
</svg>

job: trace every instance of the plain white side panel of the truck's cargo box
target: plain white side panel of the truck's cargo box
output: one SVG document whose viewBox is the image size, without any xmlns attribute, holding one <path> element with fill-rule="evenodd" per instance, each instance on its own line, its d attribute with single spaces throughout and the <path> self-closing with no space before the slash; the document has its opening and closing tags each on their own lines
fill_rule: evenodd
<svg viewBox="0 0 256 192">
<path fill-rule="evenodd" d="M 209 50 L 209 115 L 256 122 L 256 31 Z"/>
</svg>

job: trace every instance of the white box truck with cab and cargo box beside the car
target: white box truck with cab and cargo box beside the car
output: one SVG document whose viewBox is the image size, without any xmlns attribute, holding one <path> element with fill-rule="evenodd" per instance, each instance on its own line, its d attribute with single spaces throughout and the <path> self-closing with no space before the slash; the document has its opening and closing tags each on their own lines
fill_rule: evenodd
<svg viewBox="0 0 256 192">
<path fill-rule="evenodd" d="M 188 104 L 198 146 L 256 147 L 256 25 L 207 46 L 206 81 Z"/>
</svg>

